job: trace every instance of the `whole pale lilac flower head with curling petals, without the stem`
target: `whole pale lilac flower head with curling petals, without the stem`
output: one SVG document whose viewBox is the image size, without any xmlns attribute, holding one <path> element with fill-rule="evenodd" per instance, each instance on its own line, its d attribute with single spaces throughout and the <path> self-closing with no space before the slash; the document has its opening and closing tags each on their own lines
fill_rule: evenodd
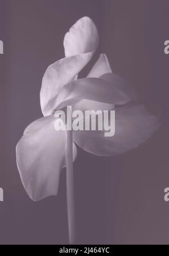
<svg viewBox="0 0 169 256">
<path fill-rule="evenodd" d="M 137 104 L 133 89 L 113 74 L 105 54 L 87 78 L 78 79 L 98 45 L 94 22 L 87 17 L 78 20 L 65 35 L 65 58 L 45 72 L 41 88 L 44 117 L 26 128 L 16 146 L 21 180 L 33 200 L 57 194 L 60 172 L 66 165 L 66 131 L 54 129 L 55 110 L 68 105 L 74 110 L 115 109 L 115 136 L 105 138 L 104 131 L 73 132 L 73 160 L 77 157 L 75 144 L 97 156 L 114 156 L 144 143 L 159 127 L 158 117 Z"/>
</svg>

